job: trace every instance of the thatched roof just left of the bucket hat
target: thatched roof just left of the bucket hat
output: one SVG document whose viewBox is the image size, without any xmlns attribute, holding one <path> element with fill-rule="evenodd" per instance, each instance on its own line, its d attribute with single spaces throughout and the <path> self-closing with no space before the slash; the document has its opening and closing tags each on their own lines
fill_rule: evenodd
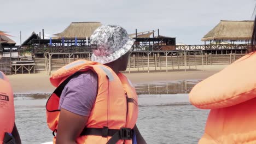
<svg viewBox="0 0 256 144">
<path fill-rule="evenodd" d="M 96 28 L 102 26 L 101 22 L 72 22 L 63 32 L 57 33 L 54 39 L 85 39 L 90 38 Z"/>
</svg>

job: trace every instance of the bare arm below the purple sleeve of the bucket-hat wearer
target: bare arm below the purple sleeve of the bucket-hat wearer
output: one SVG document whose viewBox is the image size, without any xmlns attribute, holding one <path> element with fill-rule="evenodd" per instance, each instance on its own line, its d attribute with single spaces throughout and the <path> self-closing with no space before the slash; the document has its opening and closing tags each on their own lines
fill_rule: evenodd
<svg viewBox="0 0 256 144">
<path fill-rule="evenodd" d="M 75 144 L 75 140 L 85 128 L 88 117 L 77 115 L 62 108 L 59 120 L 56 144 Z"/>
</svg>

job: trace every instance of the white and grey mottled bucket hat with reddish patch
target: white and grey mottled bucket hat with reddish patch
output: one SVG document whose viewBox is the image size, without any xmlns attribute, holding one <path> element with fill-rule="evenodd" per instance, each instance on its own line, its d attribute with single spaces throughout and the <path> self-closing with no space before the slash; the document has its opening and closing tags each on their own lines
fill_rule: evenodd
<svg viewBox="0 0 256 144">
<path fill-rule="evenodd" d="M 90 37 L 91 60 L 102 64 L 110 63 L 127 53 L 135 39 L 120 26 L 107 25 L 98 27 Z"/>
</svg>

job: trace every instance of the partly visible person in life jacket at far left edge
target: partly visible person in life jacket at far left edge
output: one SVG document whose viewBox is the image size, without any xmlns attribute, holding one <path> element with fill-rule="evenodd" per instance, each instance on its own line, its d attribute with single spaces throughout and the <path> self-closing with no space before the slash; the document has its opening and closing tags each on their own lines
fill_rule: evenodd
<svg viewBox="0 0 256 144">
<path fill-rule="evenodd" d="M 21 143 L 15 125 L 13 90 L 8 78 L 0 71 L 0 143 Z"/>
</svg>

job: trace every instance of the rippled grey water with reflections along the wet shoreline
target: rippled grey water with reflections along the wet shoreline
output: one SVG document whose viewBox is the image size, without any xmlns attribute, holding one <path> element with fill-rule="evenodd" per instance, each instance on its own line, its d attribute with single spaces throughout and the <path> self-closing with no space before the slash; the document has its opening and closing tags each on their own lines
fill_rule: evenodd
<svg viewBox="0 0 256 144">
<path fill-rule="evenodd" d="M 171 81 L 136 85 L 139 101 L 137 126 L 147 143 L 197 143 L 208 110 L 190 105 L 188 93 L 199 81 Z M 49 94 L 15 94 L 16 125 L 22 143 L 51 141 L 45 116 Z"/>
</svg>

